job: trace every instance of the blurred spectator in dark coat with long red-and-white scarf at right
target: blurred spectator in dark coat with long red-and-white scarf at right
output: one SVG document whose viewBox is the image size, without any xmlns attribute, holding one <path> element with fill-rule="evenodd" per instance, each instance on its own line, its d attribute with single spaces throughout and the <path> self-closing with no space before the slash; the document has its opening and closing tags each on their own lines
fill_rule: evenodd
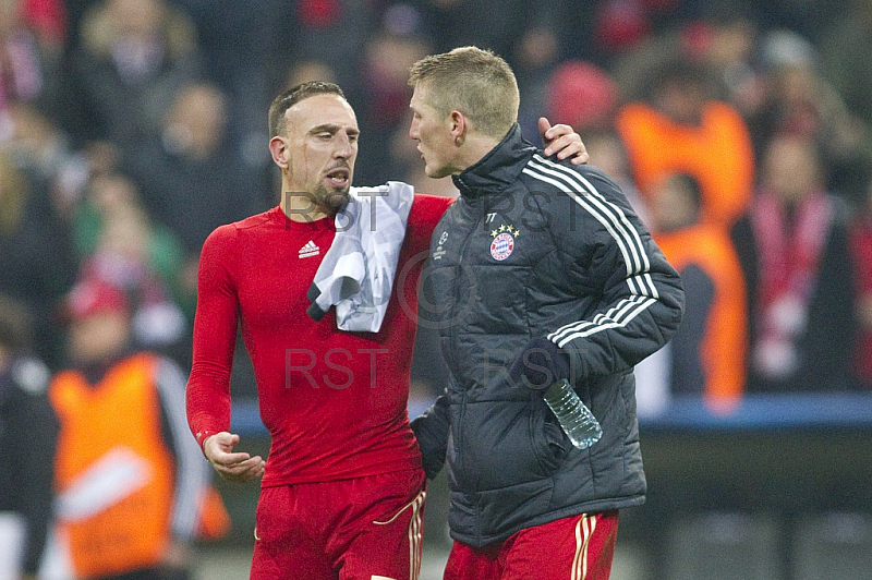
<svg viewBox="0 0 872 580">
<path fill-rule="evenodd" d="M 776 135 L 760 190 L 732 228 L 747 281 L 747 390 L 848 387 L 856 318 L 845 204 L 809 137 Z"/>
</svg>

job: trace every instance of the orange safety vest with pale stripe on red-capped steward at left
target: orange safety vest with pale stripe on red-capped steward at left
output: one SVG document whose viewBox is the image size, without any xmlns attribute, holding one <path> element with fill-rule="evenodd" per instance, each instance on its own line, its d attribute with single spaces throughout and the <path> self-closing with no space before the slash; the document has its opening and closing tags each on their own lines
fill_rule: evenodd
<svg viewBox="0 0 872 580">
<path fill-rule="evenodd" d="M 156 357 L 137 354 L 96 386 L 64 371 L 49 387 L 61 423 L 59 525 L 78 577 L 154 566 L 169 542 L 174 462 L 161 435 L 156 367 Z"/>
</svg>

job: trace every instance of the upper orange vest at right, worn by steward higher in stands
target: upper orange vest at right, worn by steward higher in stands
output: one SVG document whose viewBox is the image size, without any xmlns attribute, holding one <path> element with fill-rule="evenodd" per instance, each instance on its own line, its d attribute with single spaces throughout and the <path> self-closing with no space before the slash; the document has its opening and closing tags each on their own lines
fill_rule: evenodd
<svg viewBox="0 0 872 580">
<path fill-rule="evenodd" d="M 754 153 L 748 126 L 731 106 L 712 101 L 700 126 L 688 126 L 635 102 L 618 112 L 616 126 L 646 203 L 665 176 L 689 173 L 700 182 L 705 220 L 730 225 L 747 209 Z"/>
</svg>

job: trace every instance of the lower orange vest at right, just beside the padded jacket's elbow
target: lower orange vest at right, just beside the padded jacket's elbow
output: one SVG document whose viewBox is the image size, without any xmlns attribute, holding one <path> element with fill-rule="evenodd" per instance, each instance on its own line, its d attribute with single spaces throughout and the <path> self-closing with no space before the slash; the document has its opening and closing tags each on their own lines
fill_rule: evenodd
<svg viewBox="0 0 872 580">
<path fill-rule="evenodd" d="M 697 265 L 712 279 L 714 302 L 700 346 L 703 392 L 707 403 L 727 410 L 744 390 L 748 352 L 744 276 L 732 242 L 713 225 L 655 234 L 654 241 L 679 273 Z"/>
</svg>

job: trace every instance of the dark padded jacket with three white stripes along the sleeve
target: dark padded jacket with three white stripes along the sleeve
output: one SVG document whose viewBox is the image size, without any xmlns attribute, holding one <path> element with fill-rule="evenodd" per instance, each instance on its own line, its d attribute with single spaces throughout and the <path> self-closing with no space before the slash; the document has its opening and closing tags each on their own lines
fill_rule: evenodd
<svg viewBox="0 0 872 580">
<path fill-rule="evenodd" d="M 452 537 L 482 546 L 641 504 L 632 371 L 681 321 L 678 274 L 605 173 L 543 157 L 517 124 L 455 183 L 419 309 L 439 327 L 450 380 L 412 423 L 428 474 L 447 460 Z M 592 447 L 573 447 L 541 394 L 509 377 L 534 337 L 569 354 L 603 426 Z"/>
</svg>

